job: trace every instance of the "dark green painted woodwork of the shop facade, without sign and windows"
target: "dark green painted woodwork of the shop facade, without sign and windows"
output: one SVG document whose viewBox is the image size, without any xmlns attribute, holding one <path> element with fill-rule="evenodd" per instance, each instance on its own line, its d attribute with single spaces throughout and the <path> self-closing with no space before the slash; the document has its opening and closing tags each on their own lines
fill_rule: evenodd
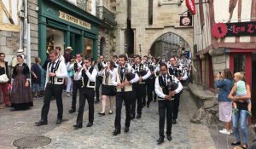
<svg viewBox="0 0 256 149">
<path fill-rule="evenodd" d="M 83 52 L 84 38 L 90 38 L 93 40 L 93 58 L 97 59 L 99 28 L 110 28 L 108 24 L 67 1 L 38 0 L 38 6 L 38 52 L 43 62 L 46 59 L 47 27 L 64 32 L 64 47 L 73 47 L 73 54 Z M 90 29 L 61 19 L 60 11 L 89 23 Z"/>
</svg>

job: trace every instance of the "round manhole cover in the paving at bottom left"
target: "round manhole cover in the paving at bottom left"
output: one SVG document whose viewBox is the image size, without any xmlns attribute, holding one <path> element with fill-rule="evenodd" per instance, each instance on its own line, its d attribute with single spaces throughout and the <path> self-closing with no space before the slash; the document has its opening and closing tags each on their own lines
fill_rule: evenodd
<svg viewBox="0 0 256 149">
<path fill-rule="evenodd" d="M 26 136 L 14 141 L 14 146 L 18 148 L 42 147 L 50 143 L 50 139 L 45 136 Z"/>
</svg>

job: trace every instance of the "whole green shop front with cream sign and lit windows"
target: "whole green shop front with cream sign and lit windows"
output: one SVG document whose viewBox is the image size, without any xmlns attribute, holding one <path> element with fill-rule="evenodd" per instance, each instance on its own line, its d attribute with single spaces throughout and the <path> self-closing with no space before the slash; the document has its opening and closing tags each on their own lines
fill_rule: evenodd
<svg viewBox="0 0 256 149">
<path fill-rule="evenodd" d="M 96 16 L 62 0 L 39 0 L 38 29 L 39 57 L 44 60 L 50 49 L 67 46 L 72 54 L 82 53 L 94 60 L 98 54 L 99 28 L 109 26 Z"/>
</svg>

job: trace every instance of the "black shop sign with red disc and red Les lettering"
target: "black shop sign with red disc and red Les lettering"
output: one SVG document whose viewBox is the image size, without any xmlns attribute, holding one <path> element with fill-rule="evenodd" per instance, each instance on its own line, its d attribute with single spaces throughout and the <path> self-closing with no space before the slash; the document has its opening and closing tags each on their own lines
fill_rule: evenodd
<svg viewBox="0 0 256 149">
<path fill-rule="evenodd" d="M 217 23 L 212 26 L 214 37 L 256 36 L 256 21 Z"/>
</svg>

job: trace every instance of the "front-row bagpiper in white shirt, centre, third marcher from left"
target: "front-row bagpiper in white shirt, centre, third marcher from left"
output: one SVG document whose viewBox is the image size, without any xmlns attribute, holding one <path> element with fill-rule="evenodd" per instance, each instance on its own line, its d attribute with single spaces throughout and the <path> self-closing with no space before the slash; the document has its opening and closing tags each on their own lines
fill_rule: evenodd
<svg viewBox="0 0 256 149">
<path fill-rule="evenodd" d="M 116 95 L 116 115 L 114 121 L 113 135 L 119 135 L 121 129 L 121 110 L 123 100 L 125 101 L 125 133 L 129 132 L 131 123 L 131 97 L 132 97 L 132 86 L 131 83 L 136 83 L 139 80 L 137 74 L 135 77 L 128 81 L 125 74 L 131 72 L 132 68 L 127 64 L 127 57 L 125 54 L 119 55 L 119 67 L 113 69 L 112 82 L 114 86 L 117 86 Z"/>
</svg>

